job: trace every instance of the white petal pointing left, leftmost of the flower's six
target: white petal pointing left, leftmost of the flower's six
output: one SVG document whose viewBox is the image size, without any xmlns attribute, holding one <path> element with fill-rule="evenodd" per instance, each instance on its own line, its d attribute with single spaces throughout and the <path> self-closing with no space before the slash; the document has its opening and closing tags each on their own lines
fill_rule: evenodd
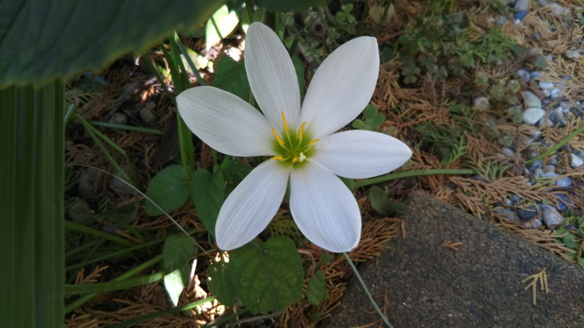
<svg viewBox="0 0 584 328">
<path fill-rule="evenodd" d="M 272 127 L 238 96 L 213 86 L 198 86 L 176 97 L 180 116 L 203 142 L 233 156 L 275 155 Z"/>
</svg>

